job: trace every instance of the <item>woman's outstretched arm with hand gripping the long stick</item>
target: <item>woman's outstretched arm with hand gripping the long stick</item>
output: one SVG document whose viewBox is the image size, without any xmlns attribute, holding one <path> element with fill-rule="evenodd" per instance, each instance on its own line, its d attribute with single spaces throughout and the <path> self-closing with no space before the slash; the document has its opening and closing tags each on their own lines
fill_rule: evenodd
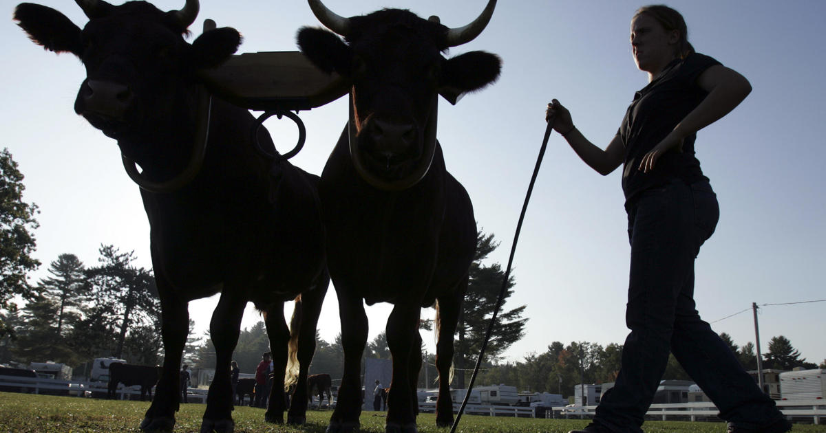
<svg viewBox="0 0 826 433">
<path fill-rule="evenodd" d="M 619 134 L 615 135 L 605 150 L 598 148 L 574 127 L 571 113 L 556 99 L 548 104 L 548 109 L 545 111 L 545 120 L 550 118 L 553 118 L 553 129 L 567 140 L 579 158 L 582 158 L 582 161 L 602 176 L 613 172 L 622 164 L 624 146 Z"/>
</svg>

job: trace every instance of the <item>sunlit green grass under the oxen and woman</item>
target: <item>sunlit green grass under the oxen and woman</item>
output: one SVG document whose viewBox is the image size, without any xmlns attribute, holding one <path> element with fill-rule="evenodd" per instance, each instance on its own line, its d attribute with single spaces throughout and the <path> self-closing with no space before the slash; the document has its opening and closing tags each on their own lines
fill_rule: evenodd
<svg viewBox="0 0 826 433">
<path fill-rule="evenodd" d="M 77 397 L 53 397 L 36 394 L 0 393 L 0 432 L 2 433 L 81 433 L 139 432 L 149 402 L 97 400 Z M 178 412 L 176 432 L 197 432 L 206 408 L 203 404 L 183 404 Z M 386 412 L 362 412 L 362 431 L 384 431 Z M 330 411 L 307 412 L 305 426 L 276 426 L 263 421 L 263 409 L 236 407 L 232 417 L 237 433 L 306 432 L 322 433 L 330 421 Z M 586 426 L 582 420 L 545 420 L 534 418 L 479 417 L 464 415 L 457 431 L 464 433 L 567 433 Z M 422 433 L 449 433 L 437 428 L 433 414 L 418 419 Z M 722 422 L 647 421 L 647 433 L 724 433 Z M 796 433 L 826 433 L 826 426 L 798 425 Z"/>
</svg>

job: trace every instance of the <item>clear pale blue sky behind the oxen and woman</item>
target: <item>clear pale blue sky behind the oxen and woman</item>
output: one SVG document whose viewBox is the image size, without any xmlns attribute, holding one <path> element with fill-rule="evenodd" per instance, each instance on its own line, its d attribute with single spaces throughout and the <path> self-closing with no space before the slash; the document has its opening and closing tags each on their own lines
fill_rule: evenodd
<svg viewBox="0 0 826 433">
<path fill-rule="evenodd" d="M 73 2 L 41 2 L 79 26 L 87 21 Z M 121 166 L 112 139 L 93 129 L 73 104 L 84 77 L 72 55 L 45 52 L 11 20 L 16 2 L 4 1 L 0 25 L 7 67 L 0 68 L 2 140 L 26 176 L 24 199 L 40 206 L 36 257 L 46 275 L 60 253 L 97 262 L 101 243 L 134 250 L 150 267 L 149 224 L 135 186 Z M 156 0 L 178 9 L 183 0 Z M 484 0 L 327 0 L 342 16 L 381 7 L 408 7 L 463 26 Z M 449 170 L 468 189 L 479 227 L 501 247 L 491 261 L 507 263 L 520 206 L 544 132 L 544 106 L 556 97 L 587 138 L 605 147 L 625 107 L 647 78 L 634 67 L 629 21 L 643 3 L 629 1 L 502 0 L 476 40 L 449 55 L 473 49 L 499 54 L 501 78 L 457 106 L 439 108 L 439 140 Z M 819 0 L 681 0 L 668 2 L 685 17 L 695 49 L 742 73 L 754 88 L 735 111 L 698 134 L 696 148 L 719 196 L 717 232 L 696 261 L 696 300 L 703 318 L 738 345 L 754 341 L 757 304 L 826 299 L 826 200 L 822 167 L 826 109 L 821 30 L 826 2 Z M 459 7 L 461 5 L 461 7 Z M 240 52 L 295 50 L 300 26 L 318 26 L 306 2 L 202 0 L 192 26 L 202 21 L 234 26 L 244 35 Z M 301 112 L 307 144 L 293 162 L 320 174 L 344 126 L 345 98 Z M 291 123 L 268 120 L 282 151 L 292 148 Z M 521 360 L 552 341 L 622 343 L 629 245 L 619 170 L 600 176 L 553 134 L 515 257 L 515 294 L 506 308 L 526 304 L 525 338 L 506 352 Z M 339 333 L 330 290 L 320 334 Z M 190 304 L 198 334 L 206 329 L 215 299 Z M 761 308 L 762 351 L 783 335 L 807 360 L 826 359 L 826 303 Z M 387 305 L 368 308 L 370 338 L 381 332 Z M 432 310 L 423 315 L 432 317 Z M 725 318 L 724 320 L 719 320 Z M 244 327 L 259 320 L 250 305 Z M 433 351 L 432 336 L 425 342 Z"/>
</svg>

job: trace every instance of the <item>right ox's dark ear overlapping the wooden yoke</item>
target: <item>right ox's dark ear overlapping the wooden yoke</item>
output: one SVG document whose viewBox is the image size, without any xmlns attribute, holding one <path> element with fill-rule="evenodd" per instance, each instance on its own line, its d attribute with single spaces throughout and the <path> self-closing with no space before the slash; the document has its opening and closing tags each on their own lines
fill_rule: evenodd
<svg viewBox="0 0 826 433">
<path fill-rule="evenodd" d="M 350 76 L 350 48 L 338 35 L 314 27 L 301 27 L 297 35 L 298 48 L 316 68 L 325 73 Z"/>
</svg>

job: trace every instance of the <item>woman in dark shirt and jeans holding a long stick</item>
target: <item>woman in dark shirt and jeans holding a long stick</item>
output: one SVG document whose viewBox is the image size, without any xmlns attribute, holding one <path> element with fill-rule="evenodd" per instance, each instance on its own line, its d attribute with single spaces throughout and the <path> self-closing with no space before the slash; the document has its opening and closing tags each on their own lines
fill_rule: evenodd
<svg viewBox="0 0 826 433">
<path fill-rule="evenodd" d="M 719 218 L 716 195 L 695 157 L 696 132 L 745 99 L 746 78 L 695 53 L 686 22 L 665 6 L 640 7 L 631 20 L 631 49 L 648 85 L 636 92 L 605 150 L 573 125 L 554 99 L 546 111 L 588 166 L 602 175 L 623 167 L 631 271 L 621 368 L 601 398 L 587 433 L 638 433 L 671 351 L 728 421 L 729 433 L 782 433 L 791 428 L 757 388 L 694 301 L 694 261 Z"/>
</svg>

